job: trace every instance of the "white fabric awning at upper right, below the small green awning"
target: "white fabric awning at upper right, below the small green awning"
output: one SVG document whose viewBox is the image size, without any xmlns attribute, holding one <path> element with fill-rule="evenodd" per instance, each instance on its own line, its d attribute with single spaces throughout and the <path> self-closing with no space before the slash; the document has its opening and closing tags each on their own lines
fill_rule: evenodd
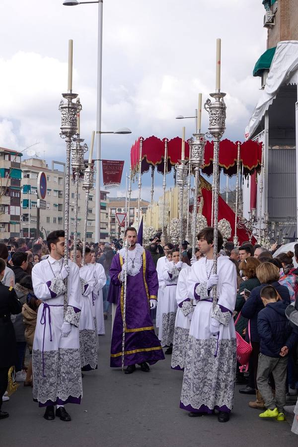
<svg viewBox="0 0 298 447">
<path fill-rule="evenodd" d="M 279 42 L 271 63 L 265 88 L 245 129 L 246 140 L 253 135 L 266 110 L 268 110 L 276 98 L 281 85 L 297 83 L 298 41 L 288 40 Z"/>
</svg>

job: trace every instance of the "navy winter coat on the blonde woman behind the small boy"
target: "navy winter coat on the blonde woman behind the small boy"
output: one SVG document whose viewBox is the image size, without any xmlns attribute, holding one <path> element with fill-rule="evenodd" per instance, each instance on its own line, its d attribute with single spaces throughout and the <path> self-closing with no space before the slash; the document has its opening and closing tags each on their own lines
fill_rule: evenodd
<svg viewBox="0 0 298 447">
<path fill-rule="evenodd" d="M 250 320 L 250 341 L 252 342 L 260 342 L 260 337 L 258 333 L 258 313 L 260 310 L 264 309 L 263 302 L 260 297 L 261 290 L 263 287 L 268 286 L 269 284 L 261 284 L 259 287 L 256 287 L 252 290 L 250 297 L 245 301 L 245 304 L 242 307 L 241 313 L 245 318 Z M 289 290 L 285 286 L 281 286 L 277 281 L 274 281 L 270 284 L 273 286 L 276 291 L 280 294 L 282 300 L 288 305 L 290 304 L 290 294 Z M 248 330 L 246 330 L 245 340 L 248 341 Z"/>
</svg>

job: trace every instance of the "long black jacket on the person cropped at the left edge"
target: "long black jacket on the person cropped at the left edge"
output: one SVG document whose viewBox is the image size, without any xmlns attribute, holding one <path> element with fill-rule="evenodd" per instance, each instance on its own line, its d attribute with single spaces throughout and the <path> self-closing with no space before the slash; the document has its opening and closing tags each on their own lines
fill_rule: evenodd
<svg viewBox="0 0 298 447">
<path fill-rule="evenodd" d="M 16 343 L 10 315 L 22 310 L 13 287 L 0 283 L 0 368 L 10 368 L 16 361 Z"/>
</svg>

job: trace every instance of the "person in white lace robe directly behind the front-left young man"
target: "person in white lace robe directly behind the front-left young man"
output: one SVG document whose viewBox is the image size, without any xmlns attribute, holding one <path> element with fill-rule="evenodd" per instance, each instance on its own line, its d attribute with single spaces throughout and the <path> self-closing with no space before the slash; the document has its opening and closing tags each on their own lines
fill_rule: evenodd
<svg viewBox="0 0 298 447">
<path fill-rule="evenodd" d="M 82 250 L 76 247 L 70 253 L 71 260 L 79 268 L 80 287 L 82 296 L 82 308 L 79 320 L 79 351 L 82 371 L 97 369 L 97 333 L 92 314 L 91 297 L 97 286 L 97 280 L 93 274 L 93 268 L 88 264 L 82 265 Z"/>
</svg>

